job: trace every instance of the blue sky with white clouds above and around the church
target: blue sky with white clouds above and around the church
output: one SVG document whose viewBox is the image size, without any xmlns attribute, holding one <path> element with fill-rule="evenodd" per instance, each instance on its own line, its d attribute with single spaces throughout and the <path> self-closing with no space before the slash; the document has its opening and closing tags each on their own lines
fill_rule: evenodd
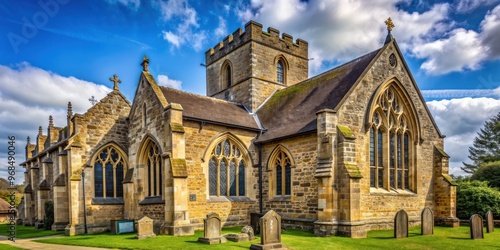
<svg viewBox="0 0 500 250">
<path fill-rule="evenodd" d="M 8 135 L 24 161 L 27 136 L 49 115 L 64 126 L 68 101 L 85 112 L 113 74 L 132 101 L 144 55 L 161 85 L 204 95 L 205 51 L 249 20 L 308 41 L 314 76 L 380 48 L 387 17 L 461 174 L 500 111 L 500 0 L 0 0 L 0 177 Z"/>
</svg>

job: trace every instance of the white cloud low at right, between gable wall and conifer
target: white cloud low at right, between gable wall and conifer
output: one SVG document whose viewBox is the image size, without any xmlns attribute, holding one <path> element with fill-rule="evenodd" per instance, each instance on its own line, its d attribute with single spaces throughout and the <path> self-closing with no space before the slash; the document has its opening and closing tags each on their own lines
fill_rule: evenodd
<svg viewBox="0 0 500 250">
<path fill-rule="evenodd" d="M 460 169 L 468 159 L 469 147 L 484 122 L 500 112 L 500 100 L 460 98 L 427 102 L 429 110 L 446 135 L 445 151 L 450 155 L 450 173 L 464 175 Z"/>
</svg>

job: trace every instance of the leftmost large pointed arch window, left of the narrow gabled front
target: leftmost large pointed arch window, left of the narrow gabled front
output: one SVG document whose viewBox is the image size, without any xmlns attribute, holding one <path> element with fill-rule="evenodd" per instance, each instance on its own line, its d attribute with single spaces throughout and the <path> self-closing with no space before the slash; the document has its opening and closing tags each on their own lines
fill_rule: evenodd
<svg viewBox="0 0 500 250">
<path fill-rule="evenodd" d="M 100 150 L 94 160 L 94 197 L 123 197 L 124 157 L 114 146 Z"/>
</svg>

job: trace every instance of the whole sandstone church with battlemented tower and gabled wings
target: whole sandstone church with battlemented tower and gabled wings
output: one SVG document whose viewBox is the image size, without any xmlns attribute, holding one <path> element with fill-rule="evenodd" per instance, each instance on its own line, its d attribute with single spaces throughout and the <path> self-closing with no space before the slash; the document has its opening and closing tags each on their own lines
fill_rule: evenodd
<svg viewBox="0 0 500 250">
<path fill-rule="evenodd" d="M 84 114 L 68 105 L 26 145 L 24 224 L 68 235 L 148 216 L 189 235 L 274 210 L 285 227 L 366 237 L 429 207 L 458 226 L 443 138 L 388 20 L 375 51 L 308 77 L 308 43 L 254 21 L 205 53 L 207 96 L 159 86 L 144 57 L 134 100 L 115 87 Z M 84 198 L 85 197 L 85 198 Z"/>
</svg>

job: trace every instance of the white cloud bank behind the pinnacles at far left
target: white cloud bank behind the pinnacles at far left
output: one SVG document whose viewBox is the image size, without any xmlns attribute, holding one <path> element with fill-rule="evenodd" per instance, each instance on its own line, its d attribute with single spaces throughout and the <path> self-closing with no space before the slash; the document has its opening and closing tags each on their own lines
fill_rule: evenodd
<svg viewBox="0 0 500 250">
<path fill-rule="evenodd" d="M 0 65 L 0 131 L 16 137 L 16 163 L 24 161 L 26 138 L 33 142 L 42 126 L 47 133 L 49 116 L 54 125 L 66 126 L 68 101 L 74 113 L 84 113 L 91 107 L 88 99 L 103 98 L 111 89 L 75 77 L 65 77 L 43 69 L 20 63 L 13 67 Z M 7 145 L 4 137 L 0 145 Z M 6 147 L 0 147 L 0 155 L 7 155 Z M 0 169 L 7 168 L 7 161 L 0 159 Z M 21 169 L 16 166 L 17 170 Z M 7 173 L 0 171 L 0 177 Z M 21 178 L 18 175 L 17 178 Z"/>
</svg>

